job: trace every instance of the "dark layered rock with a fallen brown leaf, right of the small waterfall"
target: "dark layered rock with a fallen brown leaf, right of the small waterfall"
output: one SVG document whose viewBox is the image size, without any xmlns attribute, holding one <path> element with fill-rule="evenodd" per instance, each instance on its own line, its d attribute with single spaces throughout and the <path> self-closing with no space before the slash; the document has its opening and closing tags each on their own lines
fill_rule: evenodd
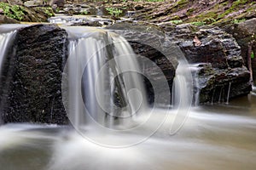
<svg viewBox="0 0 256 170">
<path fill-rule="evenodd" d="M 182 49 L 189 63 L 195 64 L 191 71 L 194 77 L 198 75 L 194 83 L 200 103 L 228 102 L 251 91 L 241 48 L 230 34 L 217 27 L 199 29 L 189 24 L 160 27 Z"/>
</svg>

